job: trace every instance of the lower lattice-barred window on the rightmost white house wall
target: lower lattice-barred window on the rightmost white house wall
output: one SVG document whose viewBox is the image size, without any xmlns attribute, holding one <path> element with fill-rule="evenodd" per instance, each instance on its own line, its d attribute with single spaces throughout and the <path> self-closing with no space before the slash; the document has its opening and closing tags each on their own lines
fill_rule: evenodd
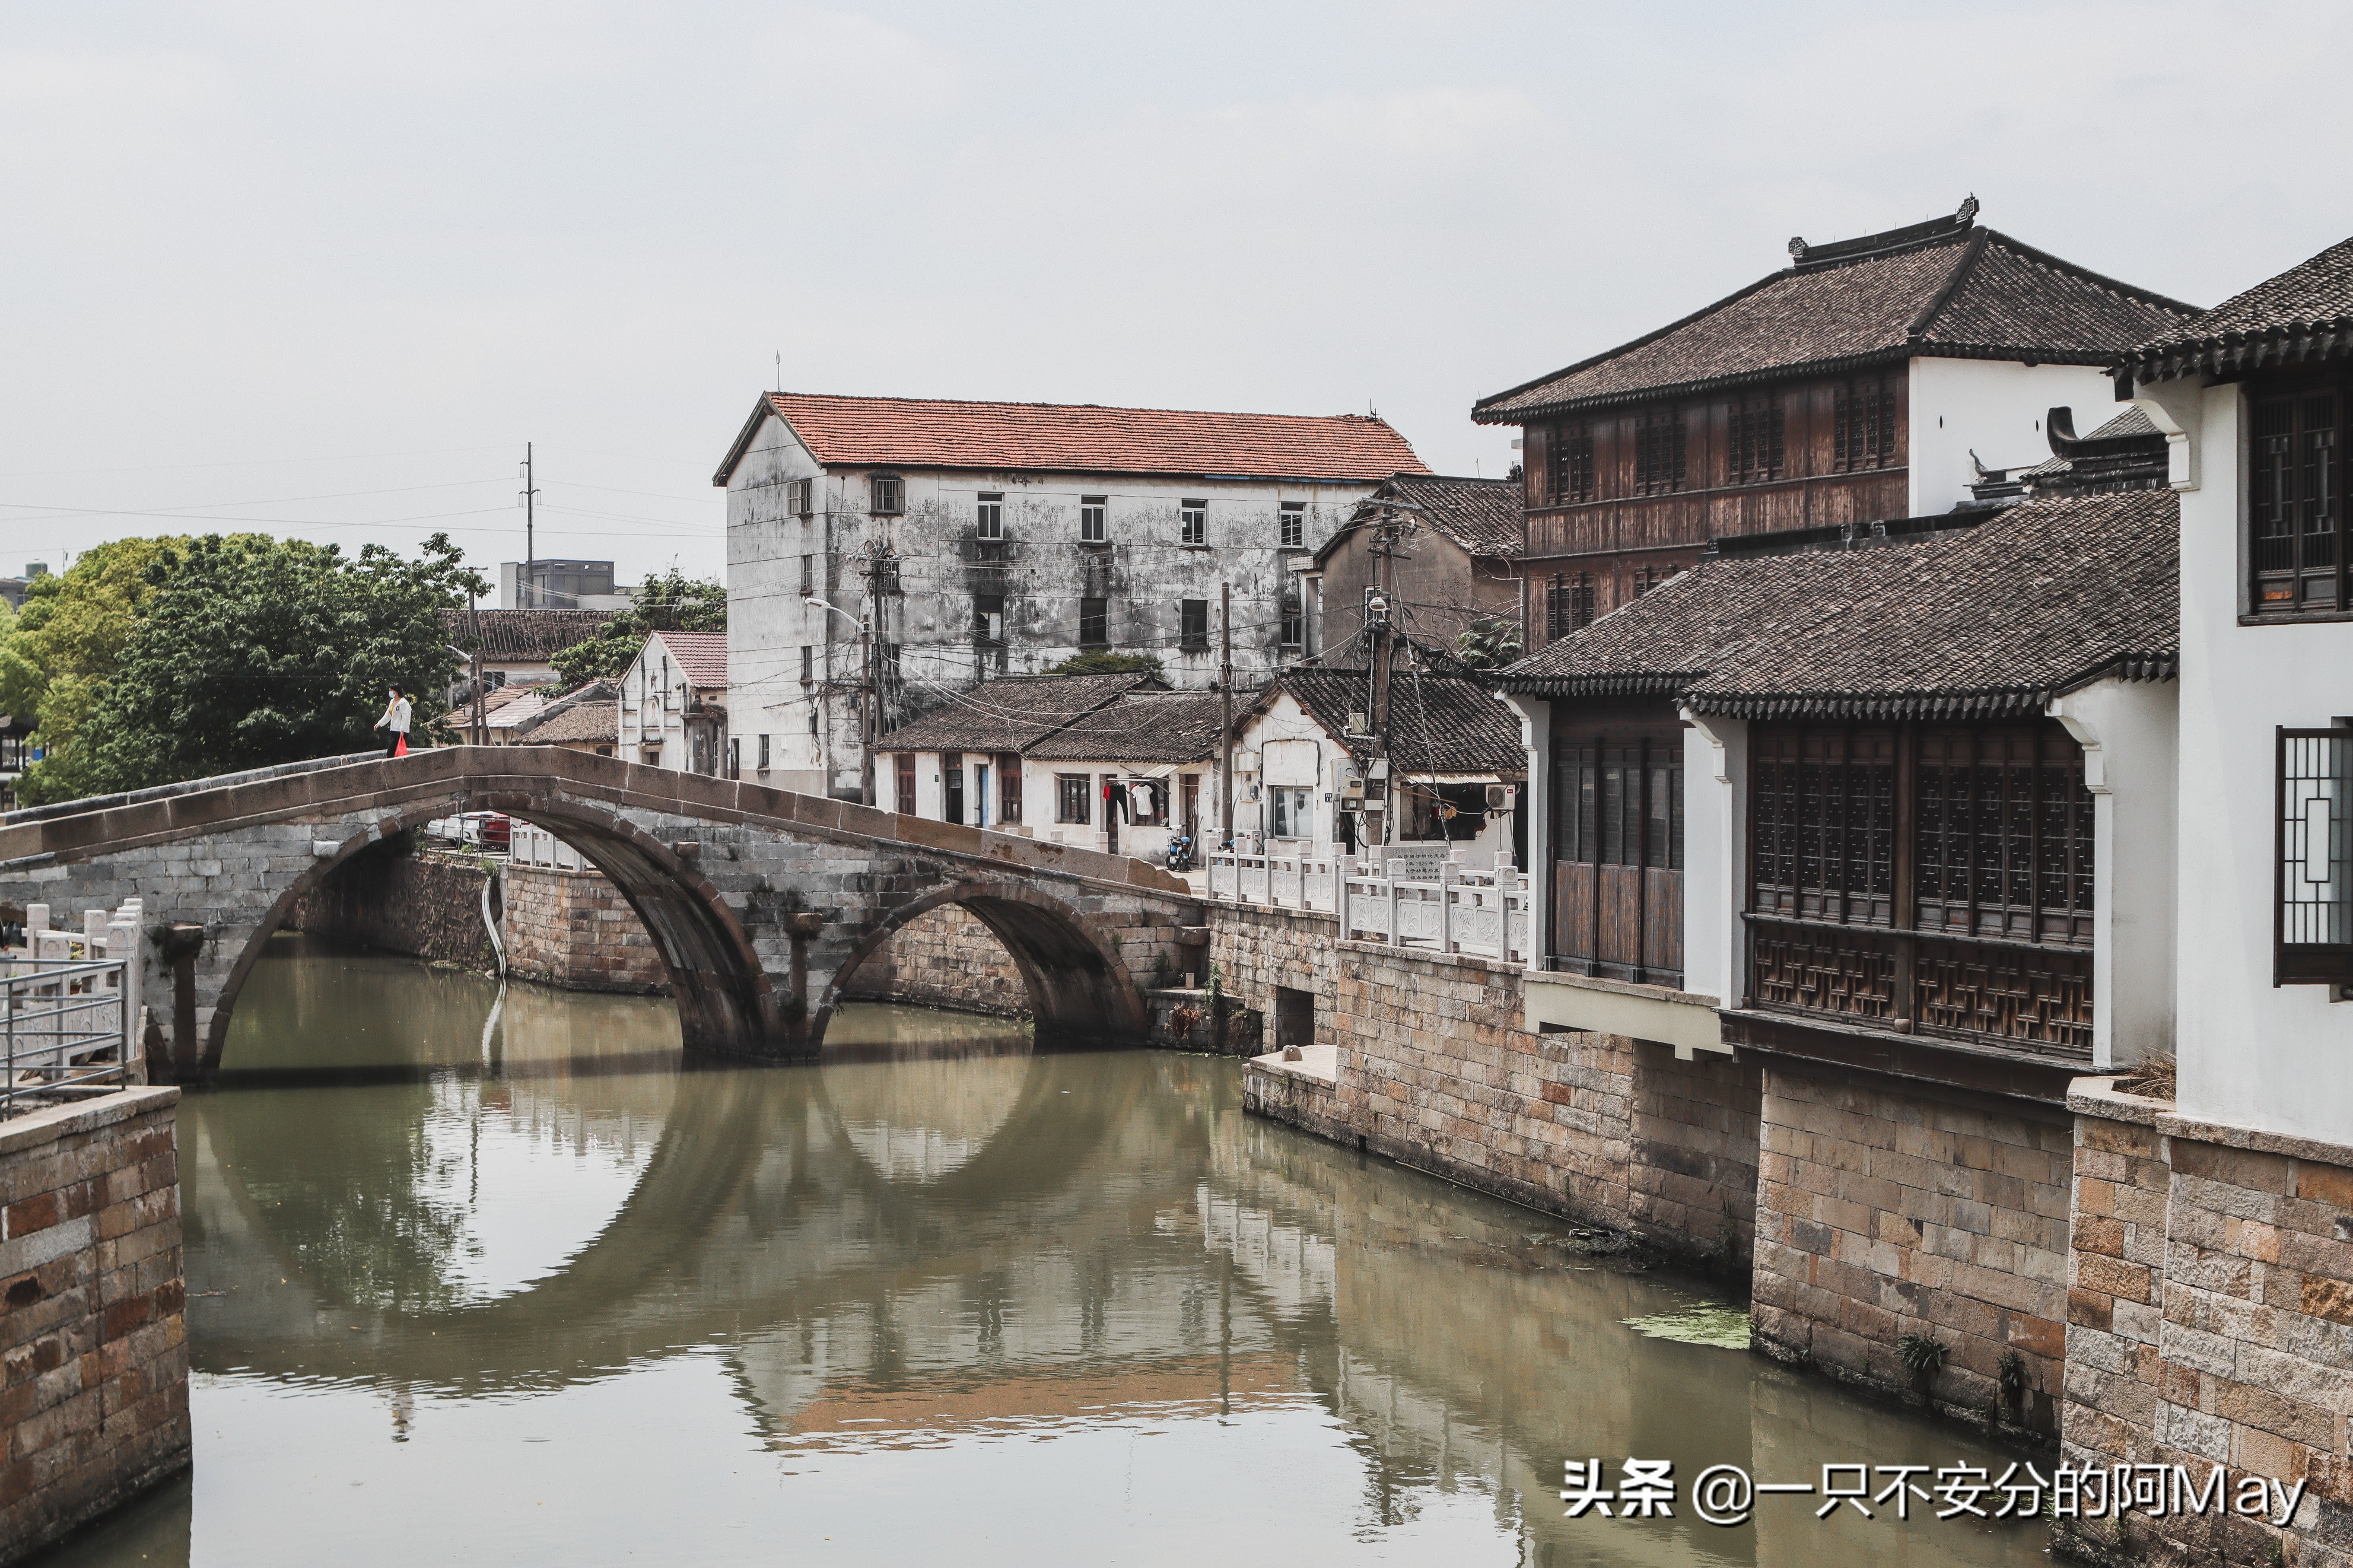
<svg viewBox="0 0 2353 1568">
<path fill-rule="evenodd" d="M 2280 730 L 2273 984 L 2353 986 L 2353 730 Z"/>
</svg>

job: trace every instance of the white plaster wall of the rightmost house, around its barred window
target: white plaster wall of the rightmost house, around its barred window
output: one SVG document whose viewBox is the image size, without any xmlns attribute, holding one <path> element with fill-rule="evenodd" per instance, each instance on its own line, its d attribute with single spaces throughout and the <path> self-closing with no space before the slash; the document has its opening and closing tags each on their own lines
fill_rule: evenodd
<svg viewBox="0 0 2353 1568">
<path fill-rule="evenodd" d="M 2245 403 L 2165 384 L 2181 492 L 2177 1038 L 2181 1114 L 2353 1142 L 2353 1003 L 2273 986 L 2275 730 L 2353 716 L 2353 624 L 2240 626 Z"/>
</svg>

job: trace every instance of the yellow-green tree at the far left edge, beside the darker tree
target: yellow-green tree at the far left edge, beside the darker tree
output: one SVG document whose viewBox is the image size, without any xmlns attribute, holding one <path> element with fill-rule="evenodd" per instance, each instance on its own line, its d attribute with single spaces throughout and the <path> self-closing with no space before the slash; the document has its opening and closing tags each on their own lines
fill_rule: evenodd
<svg viewBox="0 0 2353 1568">
<path fill-rule="evenodd" d="M 155 596 L 151 567 L 186 539 L 115 539 L 82 551 L 66 572 L 35 577 L 0 638 L 0 709 L 28 720 L 49 753 L 16 793 L 28 803 L 99 793 L 78 744 Z"/>
</svg>

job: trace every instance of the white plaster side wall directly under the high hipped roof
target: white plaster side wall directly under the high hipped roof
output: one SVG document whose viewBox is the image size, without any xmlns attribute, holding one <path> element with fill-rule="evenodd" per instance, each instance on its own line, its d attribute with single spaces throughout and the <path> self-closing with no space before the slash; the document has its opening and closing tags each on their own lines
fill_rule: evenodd
<svg viewBox="0 0 2353 1568">
<path fill-rule="evenodd" d="M 2075 410 L 2075 433 L 2115 417 L 2115 384 L 2094 365 L 2019 365 L 2017 360 L 1911 363 L 1911 516 L 1953 511 L 1969 499 L 1977 469 L 2040 464 L 2052 454 L 2042 417 Z"/>
</svg>

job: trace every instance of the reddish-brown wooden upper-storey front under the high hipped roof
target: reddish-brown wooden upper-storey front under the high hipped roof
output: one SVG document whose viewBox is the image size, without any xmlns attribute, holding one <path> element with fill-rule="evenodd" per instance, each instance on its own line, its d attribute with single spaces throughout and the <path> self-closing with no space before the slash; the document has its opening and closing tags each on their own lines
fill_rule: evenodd
<svg viewBox="0 0 2353 1568">
<path fill-rule="evenodd" d="M 1908 365 L 1522 426 L 1529 647 L 1694 565 L 1708 539 L 1908 511 Z"/>
</svg>

